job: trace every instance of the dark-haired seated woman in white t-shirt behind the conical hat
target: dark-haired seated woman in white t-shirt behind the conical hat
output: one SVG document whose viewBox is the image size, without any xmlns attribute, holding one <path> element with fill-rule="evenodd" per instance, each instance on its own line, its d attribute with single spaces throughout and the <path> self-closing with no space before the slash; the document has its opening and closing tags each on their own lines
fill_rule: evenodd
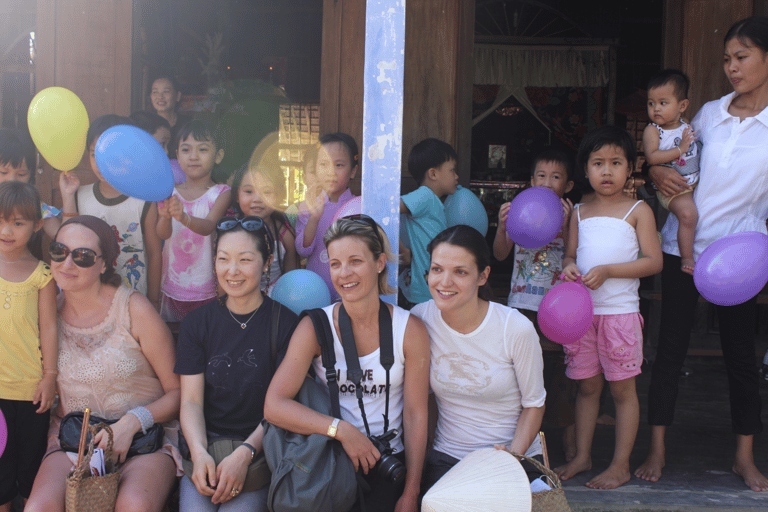
<svg viewBox="0 0 768 512">
<path fill-rule="evenodd" d="M 454 226 L 427 251 L 432 300 L 411 310 L 431 338 L 429 382 L 438 411 L 424 491 L 481 448 L 507 445 L 540 457 L 546 398 L 536 329 L 516 309 L 488 300 L 491 256 L 483 236 Z"/>
</svg>

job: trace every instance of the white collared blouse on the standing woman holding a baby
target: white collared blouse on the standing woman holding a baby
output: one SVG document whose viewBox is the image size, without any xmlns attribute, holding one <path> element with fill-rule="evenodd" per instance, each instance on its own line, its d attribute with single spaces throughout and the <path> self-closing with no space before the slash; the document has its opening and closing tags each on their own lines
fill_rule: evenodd
<svg viewBox="0 0 768 512">
<path fill-rule="evenodd" d="M 693 128 L 704 147 L 701 177 L 693 192 L 699 211 L 694 256 L 731 233 L 766 233 L 768 218 L 768 108 L 739 121 L 728 113 L 735 92 L 704 105 Z M 680 255 L 677 218 L 669 214 L 662 249 Z"/>
</svg>

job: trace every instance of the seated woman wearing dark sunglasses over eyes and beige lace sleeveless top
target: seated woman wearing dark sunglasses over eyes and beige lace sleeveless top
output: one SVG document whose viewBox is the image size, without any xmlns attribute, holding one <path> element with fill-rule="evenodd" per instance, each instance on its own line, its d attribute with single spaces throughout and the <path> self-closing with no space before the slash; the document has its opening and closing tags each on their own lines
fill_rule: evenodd
<svg viewBox="0 0 768 512">
<path fill-rule="evenodd" d="M 181 475 L 176 448 L 179 378 L 173 373 L 173 339 L 152 304 L 121 286 L 113 262 L 112 228 L 82 215 L 61 225 L 50 246 L 58 298 L 58 408 L 51 414 L 48 453 L 25 510 L 64 510 L 67 473 L 77 453 L 59 444 L 61 418 L 90 408 L 116 420 L 113 457 L 120 472 L 116 510 L 162 510 Z M 163 423 L 163 446 L 128 458 L 135 434 Z M 106 448 L 107 435 L 95 438 Z"/>
</svg>

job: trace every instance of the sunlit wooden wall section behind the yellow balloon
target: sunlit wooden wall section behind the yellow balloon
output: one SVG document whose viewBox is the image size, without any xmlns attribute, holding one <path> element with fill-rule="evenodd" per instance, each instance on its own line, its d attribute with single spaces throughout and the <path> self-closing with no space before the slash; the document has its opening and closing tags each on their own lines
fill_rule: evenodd
<svg viewBox="0 0 768 512">
<path fill-rule="evenodd" d="M 132 16 L 132 0 L 37 0 L 35 91 L 66 87 L 91 121 L 130 114 Z M 95 181 L 87 157 L 75 172 Z M 37 184 L 43 201 L 61 204 L 58 171 L 46 163 Z"/>
</svg>

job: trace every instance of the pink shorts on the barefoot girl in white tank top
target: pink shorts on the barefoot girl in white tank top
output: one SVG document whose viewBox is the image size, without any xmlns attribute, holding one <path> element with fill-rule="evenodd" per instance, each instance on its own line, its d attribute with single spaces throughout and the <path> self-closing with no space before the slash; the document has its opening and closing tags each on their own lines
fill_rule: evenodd
<svg viewBox="0 0 768 512">
<path fill-rule="evenodd" d="M 600 373 L 618 381 L 640 374 L 643 364 L 643 317 L 640 313 L 595 315 L 587 334 L 564 345 L 565 375 L 583 380 Z"/>
</svg>

